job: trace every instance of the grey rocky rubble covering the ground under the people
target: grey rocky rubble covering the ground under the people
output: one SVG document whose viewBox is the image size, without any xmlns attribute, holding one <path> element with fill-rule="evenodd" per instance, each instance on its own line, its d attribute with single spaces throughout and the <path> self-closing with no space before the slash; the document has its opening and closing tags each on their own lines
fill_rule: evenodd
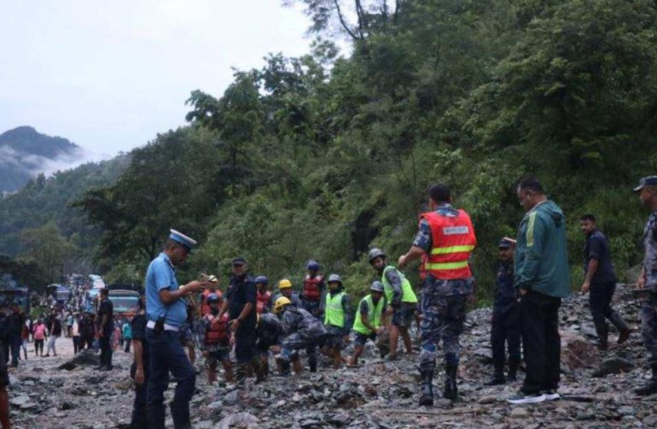
<svg viewBox="0 0 657 429">
<path fill-rule="evenodd" d="M 460 399 L 419 407 L 417 355 L 382 361 L 368 344 L 362 366 L 332 370 L 328 363 L 300 377 L 271 376 L 244 386 L 215 383 L 204 372 L 192 401 L 193 424 L 207 428 L 655 428 L 657 395 L 631 393 L 649 377 L 640 339 L 640 303 L 625 288 L 614 306 L 635 329 L 626 345 L 598 352 L 587 297 L 573 295 L 560 310 L 563 399 L 511 406 L 504 399 L 520 381 L 483 386 L 489 379 L 490 309 L 469 313 L 461 337 Z M 610 343 L 615 343 L 614 335 Z M 60 339 L 58 343 L 70 343 Z M 59 346 L 59 344 L 58 344 Z M 28 347 L 30 350 L 32 347 Z M 348 348 L 346 352 L 351 351 Z M 33 356 L 33 353 L 32 353 Z M 125 428 L 133 393 L 130 355 L 115 352 L 115 372 L 93 370 L 96 356 L 32 358 L 10 374 L 11 417 L 17 428 Z M 67 363 L 68 362 L 68 363 Z M 202 367 L 201 367 L 202 368 Z M 441 370 L 438 366 L 438 370 Z M 444 374 L 434 379 L 442 391 Z M 520 371 L 520 379 L 524 372 Z M 173 384 L 168 395 L 173 394 Z M 171 421 L 168 421 L 171 426 Z"/>
</svg>

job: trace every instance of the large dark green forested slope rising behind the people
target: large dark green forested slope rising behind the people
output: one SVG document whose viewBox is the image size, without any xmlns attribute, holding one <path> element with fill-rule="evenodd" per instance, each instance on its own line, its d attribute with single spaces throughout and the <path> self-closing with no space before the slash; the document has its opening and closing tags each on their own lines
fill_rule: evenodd
<svg viewBox="0 0 657 429">
<path fill-rule="evenodd" d="M 298 282 L 316 258 L 362 290 L 366 250 L 404 252 L 426 186 L 442 181 L 473 218 L 484 298 L 527 174 L 567 214 L 573 272 L 585 212 L 620 270 L 640 261 L 647 213 L 631 187 L 657 173 L 655 1 L 300 3 L 312 52 L 271 54 L 221 96 L 194 91 L 188 127 L 135 150 L 116 183 L 79 201 L 103 231 L 110 281 L 139 281 L 173 227 L 200 242 L 183 279 L 244 255 Z M 339 5 L 355 6 L 355 21 Z"/>
</svg>

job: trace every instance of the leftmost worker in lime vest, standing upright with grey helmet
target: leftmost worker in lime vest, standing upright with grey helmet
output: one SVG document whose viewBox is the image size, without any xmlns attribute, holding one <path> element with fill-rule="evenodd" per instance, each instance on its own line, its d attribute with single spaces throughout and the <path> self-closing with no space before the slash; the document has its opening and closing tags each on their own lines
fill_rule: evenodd
<svg viewBox="0 0 657 429">
<path fill-rule="evenodd" d="M 342 365 L 342 348 L 344 339 L 349 335 L 352 326 L 351 303 L 349 295 L 344 292 L 342 277 L 337 274 L 328 276 L 328 293 L 324 305 L 324 326 L 328 338 L 324 342 L 322 352 L 333 359 L 333 368 Z"/>
</svg>

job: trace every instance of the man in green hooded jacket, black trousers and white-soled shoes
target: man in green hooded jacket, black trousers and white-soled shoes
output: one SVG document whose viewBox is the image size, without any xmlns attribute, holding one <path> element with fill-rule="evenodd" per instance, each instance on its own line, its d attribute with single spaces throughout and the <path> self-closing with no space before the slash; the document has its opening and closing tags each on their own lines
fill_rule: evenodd
<svg viewBox="0 0 657 429">
<path fill-rule="evenodd" d="M 565 217 L 545 196 L 540 182 L 520 182 L 518 199 L 527 210 L 516 243 L 515 287 L 520 290 L 521 335 L 527 375 L 511 403 L 559 399 L 561 339 L 559 307 L 570 290 Z"/>
</svg>

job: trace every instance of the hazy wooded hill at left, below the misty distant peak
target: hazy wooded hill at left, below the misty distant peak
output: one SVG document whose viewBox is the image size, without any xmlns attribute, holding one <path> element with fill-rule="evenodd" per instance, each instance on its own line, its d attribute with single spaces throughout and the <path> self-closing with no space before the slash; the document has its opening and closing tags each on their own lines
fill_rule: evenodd
<svg viewBox="0 0 657 429">
<path fill-rule="evenodd" d="M 18 192 L 0 198 L 0 255 L 22 259 L 13 270 L 34 265 L 30 286 L 59 281 L 64 271 L 92 268 L 101 230 L 72 203 L 92 188 L 113 183 L 129 159 L 119 155 L 48 178 L 39 174 Z M 1 267 L 0 272 L 4 272 Z"/>
</svg>

